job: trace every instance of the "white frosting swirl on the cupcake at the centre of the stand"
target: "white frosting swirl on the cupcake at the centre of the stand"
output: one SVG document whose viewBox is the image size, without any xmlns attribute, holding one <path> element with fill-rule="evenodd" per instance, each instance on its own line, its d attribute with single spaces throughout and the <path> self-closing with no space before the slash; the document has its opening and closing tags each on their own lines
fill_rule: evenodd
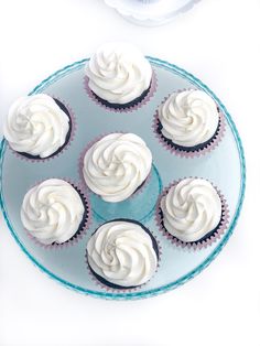
<svg viewBox="0 0 260 346">
<path fill-rule="evenodd" d="M 107 202 L 128 198 L 148 177 L 152 154 L 133 133 L 111 133 L 85 154 L 83 174 L 88 187 Z"/>
</svg>

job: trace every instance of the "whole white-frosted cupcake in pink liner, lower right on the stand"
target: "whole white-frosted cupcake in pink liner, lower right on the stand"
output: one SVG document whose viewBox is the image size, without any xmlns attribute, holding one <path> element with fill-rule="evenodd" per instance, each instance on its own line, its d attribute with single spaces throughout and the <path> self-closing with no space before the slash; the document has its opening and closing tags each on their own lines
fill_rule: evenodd
<svg viewBox="0 0 260 346">
<path fill-rule="evenodd" d="M 164 190 L 159 197 L 156 220 L 174 244 L 196 249 L 220 237 L 227 227 L 228 208 L 212 183 L 188 177 Z"/>
</svg>

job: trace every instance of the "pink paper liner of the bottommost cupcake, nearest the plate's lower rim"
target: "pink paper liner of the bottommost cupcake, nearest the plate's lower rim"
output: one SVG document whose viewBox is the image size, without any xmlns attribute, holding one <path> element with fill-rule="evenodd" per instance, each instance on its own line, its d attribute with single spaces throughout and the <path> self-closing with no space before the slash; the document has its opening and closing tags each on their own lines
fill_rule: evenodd
<svg viewBox="0 0 260 346">
<path fill-rule="evenodd" d="M 160 268 L 160 262 L 161 262 L 161 257 L 162 257 L 162 247 L 160 245 L 160 241 L 156 239 L 155 236 L 153 236 L 153 238 L 155 239 L 156 244 L 158 244 L 158 250 L 159 250 L 159 257 L 158 257 L 158 267 L 156 267 L 156 270 L 154 272 L 154 274 L 152 275 L 152 278 L 156 274 L 159 268 Z M 147 282 L 140 284 L 139 286 L 136 286 L 136 288 L 131 288 L 131 289 L 116 289 L 116 288 L 111 288 L 111 286 L 108 286 L 106 285 L 105 283 L 100 282 L 96 277 L 95 274 L 91 272 L 90 270 L 90 266 L 88 263 L 88 258 L 87 258 L 87 250 L 86 250 L 86 253 L 85 253 L 85 262 L 86 262 L 86 266 L 87 266 L 87 272 L 89 274 L 89 278 L 91 279 L 91 281 L 97 285 L 99 286 L 100 289 L 107 291 L 107 292 L 111 292 L 111 293 L 129 293 L 129 292 L 137 292 L 139 291 L 140 289 L 142 289 L 143 286 L 145 286 L 150 281 L 148 280 Z"/>
</svg>

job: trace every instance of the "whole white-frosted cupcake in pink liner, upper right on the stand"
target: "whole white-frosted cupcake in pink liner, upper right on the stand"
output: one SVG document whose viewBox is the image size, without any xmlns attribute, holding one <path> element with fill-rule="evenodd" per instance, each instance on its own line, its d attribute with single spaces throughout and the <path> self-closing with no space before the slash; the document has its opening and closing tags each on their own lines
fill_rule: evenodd
<svg viewBox="0 0 260 346">
<path fill-rule="evenodd" d="M 216 102 L 198 89 L 166 97 L 158 108 L 153 127 L 166 149 L 186 158 L 213 150 L 225 131 L 224 116 Z"/>
</svg>

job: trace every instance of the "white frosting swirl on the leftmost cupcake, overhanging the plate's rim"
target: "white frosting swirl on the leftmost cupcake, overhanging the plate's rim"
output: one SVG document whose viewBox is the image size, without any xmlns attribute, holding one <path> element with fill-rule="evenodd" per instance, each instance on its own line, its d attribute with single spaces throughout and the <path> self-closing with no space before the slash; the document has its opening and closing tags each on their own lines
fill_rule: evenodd
<svg viewBox="0 0 260 346">
<path fill-rule="evenodd" d="M 68 130 L 67 115 L 52 97 L 37 94 L 11 106 L 3 134 L 13 150 L 47 158 L 65 143 Z"/>
</svg>

